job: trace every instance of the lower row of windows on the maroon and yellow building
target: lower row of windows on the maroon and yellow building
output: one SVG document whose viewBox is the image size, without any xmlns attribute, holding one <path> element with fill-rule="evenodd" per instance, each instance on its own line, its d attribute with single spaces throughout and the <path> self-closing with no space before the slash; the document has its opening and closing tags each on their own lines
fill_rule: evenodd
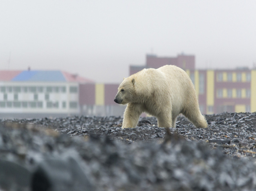
<svg viewBox="0 0 256 191">
<path fill-rule="evenodd" d="M 250 98 L 250 89 L 218 89 L 218 98 Z"/>
</svg>

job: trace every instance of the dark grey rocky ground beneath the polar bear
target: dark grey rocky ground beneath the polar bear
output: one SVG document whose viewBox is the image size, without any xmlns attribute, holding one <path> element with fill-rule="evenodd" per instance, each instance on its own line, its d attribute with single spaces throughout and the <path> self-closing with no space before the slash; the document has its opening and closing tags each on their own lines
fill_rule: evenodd
<svg viewBox="0 0 256 191">
<path fill-rule="evenodd" d="M 255 190 L 256 113 L 178 117 L 172 136 L 154 117 L 0 120 L 3 190 Z"/>
</svg>

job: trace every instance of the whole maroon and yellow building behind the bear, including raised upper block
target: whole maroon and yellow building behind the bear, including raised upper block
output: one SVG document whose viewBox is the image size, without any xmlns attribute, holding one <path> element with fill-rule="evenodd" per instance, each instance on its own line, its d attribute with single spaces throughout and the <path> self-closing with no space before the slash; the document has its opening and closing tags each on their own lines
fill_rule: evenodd
<svg viewBox="0 0 256 191">
<path fill-rule="evenodd" d="M 146 55 L 146 65 L 131 65 L 130 74 L 166 64 L 176 65 L 187 72 L 195 85 L 202 113 L 256 111 L 256 69 L 200 70 L 195 68 L 194 55 Z"/>
</svg>

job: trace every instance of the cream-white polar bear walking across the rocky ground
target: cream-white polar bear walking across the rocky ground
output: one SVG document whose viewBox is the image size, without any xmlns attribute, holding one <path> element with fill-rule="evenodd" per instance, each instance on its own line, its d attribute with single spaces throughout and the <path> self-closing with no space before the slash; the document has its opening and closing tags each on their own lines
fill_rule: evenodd
<svg viewBox="0 0 256 191">
<path fill-rule="evenodd" d="M 122 128 L 136 127 L 142 112 L 155 116 L 158 127 L 175 127 L 180 113 L 196 127 L 207 127 L 192 81 L 174 65 L 143 69 L 124 78 L 114 101 L 127 104 Z"/>
</svg>

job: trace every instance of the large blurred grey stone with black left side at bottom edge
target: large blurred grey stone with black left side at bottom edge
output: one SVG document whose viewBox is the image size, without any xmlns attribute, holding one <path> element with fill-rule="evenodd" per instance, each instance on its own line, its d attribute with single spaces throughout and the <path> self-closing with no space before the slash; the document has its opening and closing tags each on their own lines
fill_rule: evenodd
<svg viewBox="0 0 256 191">
<path fill-rule="evenodd" d="M 95 190 L 78 163 L 69 158 L 46 159 L 32 175 L 33 191 Z"/>
</svg>

